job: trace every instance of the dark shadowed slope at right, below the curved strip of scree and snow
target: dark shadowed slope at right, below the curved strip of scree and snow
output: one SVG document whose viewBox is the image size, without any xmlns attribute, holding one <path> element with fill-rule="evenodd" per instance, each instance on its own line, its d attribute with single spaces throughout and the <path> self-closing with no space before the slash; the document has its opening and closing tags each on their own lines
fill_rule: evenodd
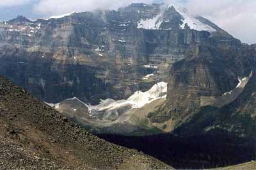
<svg viewBox="0 0 256 170">
<path fill-rule="evenodd" d="M 255 65 L 255 63 L 252 63 Z M 251 68 L 253 69 L 253 68 Z M 191 112 L 189 118 L 177 125 L 174 130 L 180 135 L 218 135 L 232 134 L 237 137 L 255 140 L 255 71 L 249 77 L 239 79 L 239 83 L 232 91 L 224 93 L 220 100 L 223 105 L 207 104 L 198 106 Z M 240 92 L 239 92 L 240 91 Z M 231 98 L 232 95 L 236 97 Z M 202 101 L 202 99 L 201 99 Z M 219 101 L 219 102 L 220 102 Z M 229 101 L 227 103 L 227 101 Z M 226 103 L 225 103 L 226 102 Z"/>
</svg>

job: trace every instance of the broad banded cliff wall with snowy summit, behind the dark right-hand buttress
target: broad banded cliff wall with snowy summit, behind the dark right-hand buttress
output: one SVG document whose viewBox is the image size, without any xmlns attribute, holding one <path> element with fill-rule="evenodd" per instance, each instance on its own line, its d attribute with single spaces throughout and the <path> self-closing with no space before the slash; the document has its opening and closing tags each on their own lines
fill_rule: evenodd
<svg viewBox="0 0 256 170">
<path fill-rule="evenodd" d="M 166 80 L 191 45 L 209 38 L 202 28 L 222 31 L 196 19 L 200 27 L 189 29 L 187 15 L 178 11 L 131 4 L 118 11 L 1 22 L 0 73 L 51 103 L 74 96 L 92 103 L 127 98 Z M 150 73 L 153 79 L 143 80 Z"/>
</svg>

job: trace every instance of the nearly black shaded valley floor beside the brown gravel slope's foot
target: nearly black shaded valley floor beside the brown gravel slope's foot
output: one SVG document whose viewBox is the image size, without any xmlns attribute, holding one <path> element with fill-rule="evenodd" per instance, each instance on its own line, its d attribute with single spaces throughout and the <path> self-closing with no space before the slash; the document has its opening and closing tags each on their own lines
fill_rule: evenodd
<svg viewBox="0 0 256 170">
<path fill-rule="evenodd" d="M 228 167 L 256 158 L 253 139 L 218 132 L 193 137 L 173 134 L 150 136 L 98 135 L 111 143 L 134 148 L 158 158 L 175 169 Z"/>
</svg>

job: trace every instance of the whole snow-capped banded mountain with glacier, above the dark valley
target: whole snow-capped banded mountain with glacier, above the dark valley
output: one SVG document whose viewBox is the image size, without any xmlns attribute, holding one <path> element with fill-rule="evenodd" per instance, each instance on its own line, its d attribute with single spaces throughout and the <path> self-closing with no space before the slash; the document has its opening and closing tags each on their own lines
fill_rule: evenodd
<svg viewBox="0 0 256 170">
<path fill-rule="evenodd" d="M 256 64 L 255 45 L 172 4 L 18 17 L 1 22 L 0 40 L 1 75 L 93 132 L 174 132 L 200 109 L 236 101 Z M 166 98 L 129 103 L 159 82 Z"/>
</svg>

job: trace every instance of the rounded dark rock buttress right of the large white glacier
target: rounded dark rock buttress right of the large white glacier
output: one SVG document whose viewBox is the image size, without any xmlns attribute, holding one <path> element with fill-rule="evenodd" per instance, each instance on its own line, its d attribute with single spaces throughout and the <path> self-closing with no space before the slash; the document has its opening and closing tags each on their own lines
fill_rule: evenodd
<svg viewBox="0 0 256 170">
<path fill-rule="evenodd" d="M 168 102 L 155 112 L 152 121 L 173 120 L 177 127 L 200 107 L 230 104 L 243 91 L 244 85 L 238 88 L 239 83 L 245 83 L 246 79 L 243 82 L 242 78 L 255 70 L 255 59 L 253 46 L 227 36 L 210 37 L 195 45 L 185 59 L 170 69 Z"/>
</svg>

